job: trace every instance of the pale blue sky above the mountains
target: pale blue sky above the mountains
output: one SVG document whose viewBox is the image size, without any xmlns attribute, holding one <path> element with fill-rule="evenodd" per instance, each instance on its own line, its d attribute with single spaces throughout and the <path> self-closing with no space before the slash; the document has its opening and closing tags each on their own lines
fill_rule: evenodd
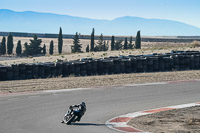
<svg viewBox="0 0 200 133">
<path fill-rule="evenodd" d="M 200 28 L 200 0 L 0 0 L 0 9 L 94 19 L 122 16 L 169 19 Z"/>
</svg>

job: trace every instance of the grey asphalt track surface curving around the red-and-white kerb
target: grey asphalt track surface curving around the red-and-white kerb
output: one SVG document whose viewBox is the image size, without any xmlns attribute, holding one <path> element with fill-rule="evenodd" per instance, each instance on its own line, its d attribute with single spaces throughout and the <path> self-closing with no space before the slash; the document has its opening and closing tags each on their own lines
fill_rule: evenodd
<svg viewBox="0 0 200 133">
<path fill-rule="evenodd" d="M 0 97 L 0 133 L 115 133 L 105 122 L 118 115 L 197 102 L 200 82 L 91 88 Z M 71 104 L 85 101 L 86 114 L 75 125 L 60 121 Z"/>
</svg>

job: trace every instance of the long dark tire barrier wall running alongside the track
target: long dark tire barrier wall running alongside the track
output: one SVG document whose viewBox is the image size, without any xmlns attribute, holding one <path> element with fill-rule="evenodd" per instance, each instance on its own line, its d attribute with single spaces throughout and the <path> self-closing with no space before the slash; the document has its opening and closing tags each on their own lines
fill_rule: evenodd
<svg viewBox="0 0 200 133">
<path fill-rule="evenodd" d="M 0 65 L 0 81 L 52 77 L 91 76 L 200 70 L 199 51 L 172 51 L 166 54 L 110 56 L 74 61 Z"/>
</svg>

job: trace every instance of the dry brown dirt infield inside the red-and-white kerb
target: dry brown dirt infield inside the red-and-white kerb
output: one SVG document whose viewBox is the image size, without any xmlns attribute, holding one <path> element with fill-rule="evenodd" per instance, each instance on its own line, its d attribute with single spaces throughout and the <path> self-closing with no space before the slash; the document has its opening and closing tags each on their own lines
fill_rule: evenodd
<svg viewBox="0 0 200 133">
<path fill-rule="evenodd" d="M 132 119 L 128 124 L 152 133 L 200 133 L 200 106 L 159 112 Z"/>
</svg>

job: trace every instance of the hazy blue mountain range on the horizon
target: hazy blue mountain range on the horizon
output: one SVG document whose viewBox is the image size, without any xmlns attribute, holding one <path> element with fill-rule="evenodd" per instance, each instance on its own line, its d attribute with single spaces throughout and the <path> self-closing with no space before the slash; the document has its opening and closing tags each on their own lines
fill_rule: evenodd
<svg viewBox="0 0 200 133">
<path fill-rule="evenodd" d="M 33 32 L 58 33 L 62 27 L 63 33 L 104 35 L 136 35 L 138 30 L 142 35 L 149 36 L 199 36 L 200 28 L 182 22 L 145 19 L 125 16 L 114 20 L 98 20 L 58 15 L 52 13 L 39 13 L 32 11 L 15 12 L 0 9 L 0 31 L 6 32 Z"/>
</svg>

